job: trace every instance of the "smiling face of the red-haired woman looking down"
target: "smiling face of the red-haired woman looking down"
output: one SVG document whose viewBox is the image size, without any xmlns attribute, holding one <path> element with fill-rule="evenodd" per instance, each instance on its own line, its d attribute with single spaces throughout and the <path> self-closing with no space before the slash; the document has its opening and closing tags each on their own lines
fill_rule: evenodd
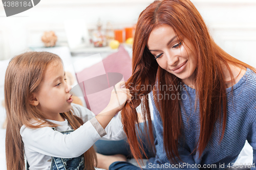
<svg viewBox="0 0 256 170">
<path fill-rule="evenodd" d="M 193 45 L 180 36 L 178 39 L 172 27 L 161 25 L 153 29 L 147 47 L 159 66 L 180 78 L 187 85 L 194 85 L 197 58 Z M 189 50 L 190 49 L 190 50 Z"/>
</svg>

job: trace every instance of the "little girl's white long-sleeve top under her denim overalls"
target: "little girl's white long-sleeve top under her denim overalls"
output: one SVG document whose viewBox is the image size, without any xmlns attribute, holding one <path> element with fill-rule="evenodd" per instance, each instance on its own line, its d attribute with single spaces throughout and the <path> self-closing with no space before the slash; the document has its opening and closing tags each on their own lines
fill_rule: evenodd
<svg viewBox="0 0 256 170">
<path fill-rule="evenodd" d="M 52 157 L 78 157 L 90 149 L 101 137 L 104 140 L 121 140 L 125 138 L 120 112 L 103 129 L 95 118 L 94 113 L 89 109 L 76 104 L 72 104 L 72 107 L 73 114 L 80 117 L 84 124 L 70 134 L 59 133 L 60 131 L 72 130 L 67 119 L 63 122 L 49 120 L 59 125 L 56 127 L 57 131 L 54 131 L 51 127 L 31 129 L 22 126 L 20 128 L 20 135 L 24 142 L 25 156 L 30 165 L 30 170 L 49 170 Z"/>
</svg>

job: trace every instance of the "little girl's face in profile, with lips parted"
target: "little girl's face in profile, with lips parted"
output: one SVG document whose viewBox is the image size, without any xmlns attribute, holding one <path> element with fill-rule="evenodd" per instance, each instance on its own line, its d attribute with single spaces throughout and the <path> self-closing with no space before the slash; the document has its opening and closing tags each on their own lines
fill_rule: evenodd
<svg viewBox="0 0 256 170">
<path fill-rule="evenodd" d="M 59 61 L 51 62 L 36 92 L 38 108 L 46 117 L 69 111 L 73 101 L 70 90 L 62 64 Z"/>
</svg>

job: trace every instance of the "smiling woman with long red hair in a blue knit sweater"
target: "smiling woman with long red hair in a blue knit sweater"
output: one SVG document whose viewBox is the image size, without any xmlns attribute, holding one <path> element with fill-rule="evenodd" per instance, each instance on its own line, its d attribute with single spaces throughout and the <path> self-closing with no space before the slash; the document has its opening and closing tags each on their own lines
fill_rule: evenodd
<svg viewBox="0 0 256 170">
<path fill-rule="evenodd" d="M 122 110 L 133 157 L 140 160 L 144 151 L 136 137 L 135 107 L 140 102 L 150 141 L 154 141 L 148 106 L 151 95 L 156 157 L 148 160 L 148 168 L 232 167 L 246 140 L 255 162 L 255 72 L 215 43 L 189 0 L 153 2 L 137 22 L 133 74 L 126 82 L 133 100 Z M 99 156 L 98 162 L 101 158 L 108 159 Z M 105 168 L 140 169 L 113 158 L 108 163 Z M 241 163 L 244 166 L 239 167 L 245 167 L 248 162 Z M 246 164 L 246 168 L 255 166 Z"/>
</svg>

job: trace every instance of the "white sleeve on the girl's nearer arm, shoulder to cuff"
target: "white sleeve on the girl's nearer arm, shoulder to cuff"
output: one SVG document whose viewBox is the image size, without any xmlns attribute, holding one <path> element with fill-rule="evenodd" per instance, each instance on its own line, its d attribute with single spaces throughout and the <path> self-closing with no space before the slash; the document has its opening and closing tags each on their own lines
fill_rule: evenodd
<svg viewBox="0 0 256 170">
<path fill-rule="evenodd" d="M 20 128 L 24 147 L 34 152 L 61 158 L 78 157 L 100 139 L 99 133 L 90 121 L 70 134 L 62 134 L 51 127 L 37 129 Z"/>
</svg>

